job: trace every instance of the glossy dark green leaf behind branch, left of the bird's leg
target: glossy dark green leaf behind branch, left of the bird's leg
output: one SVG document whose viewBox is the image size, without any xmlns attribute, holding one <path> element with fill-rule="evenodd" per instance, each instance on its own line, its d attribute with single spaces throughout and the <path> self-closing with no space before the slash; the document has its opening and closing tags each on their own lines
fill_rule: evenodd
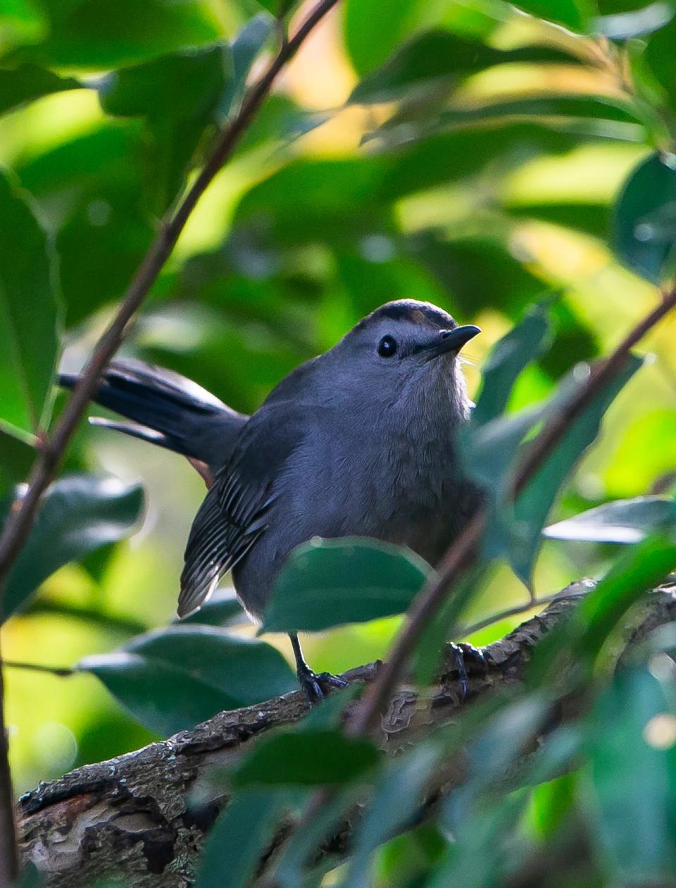
<svg viewBox="0 0 676 888">
<path fill-rule="evenodd" d="M 163 736 L 296 686 L 276 648 L 199 625 L 148 632 L 111 654 L 85 657 L 77 669 L 95 675 L 125 710 Z"/>
</svg>

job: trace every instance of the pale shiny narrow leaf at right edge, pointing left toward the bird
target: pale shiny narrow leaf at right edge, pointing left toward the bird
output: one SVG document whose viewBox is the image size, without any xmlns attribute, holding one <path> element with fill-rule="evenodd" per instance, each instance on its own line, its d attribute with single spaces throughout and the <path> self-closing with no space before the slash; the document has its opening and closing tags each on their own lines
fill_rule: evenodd
<svg viewBox="0 0 676 888">
<path fill-rule="evenodd" d="M 638 543 L 664 525 L 676 527 L 676 501 L 668 496 L 636 496 L 605 503 L 550 524 L 543 533 L 554 540 Z"/>
</svg>

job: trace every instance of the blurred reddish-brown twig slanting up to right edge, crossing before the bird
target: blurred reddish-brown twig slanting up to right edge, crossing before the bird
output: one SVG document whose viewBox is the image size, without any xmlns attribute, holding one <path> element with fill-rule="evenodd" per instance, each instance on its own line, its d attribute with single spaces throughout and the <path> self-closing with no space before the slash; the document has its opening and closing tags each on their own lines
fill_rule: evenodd
<svg viewBox="0 0 676 888">
<path fill-rule="evenodd" d="M 523 464 L 519 466 L 515 474 L 512 496 L 518 496 L 539 467 L 545 463 L 547 456 L 552 453 L 556 444 L 570 428 L 570 424 L 601 392 L 603 387 L 617 376 L 617 373 L 625 366 L 625 361 L 633 346 L 649 329 L 655 326 L 657 321 L 664 318 L 664 315 L 674 305 L 676 305 L 676 287 L 664 295 L 659 305 L 656 305 L 656 308 L 630 331 L 609 358 L 594 366 L 586 383 L 578 389 L 569 403 L 552 417 L 533 441 Z M 408 619 L 390 649 L 387 662 L 383 665 L 378 678 L 366 688 L 366 693 L 352 711 L 346 725 L 350 734 L 369 733 L 377 723 L 381 711 L 397 684 L 397 679 L 405 670 L 406 663 L 413 654 L 423 631 L 442 606 L 449 587 L 452 583 L 457 583 L 468 567 L 474 563 L 486 520 L 485 508 L 476 512 L 474 518 L 446 551 L 437 568 L 436 580 L 425 583 L 413 600 Z"/>
</svg>

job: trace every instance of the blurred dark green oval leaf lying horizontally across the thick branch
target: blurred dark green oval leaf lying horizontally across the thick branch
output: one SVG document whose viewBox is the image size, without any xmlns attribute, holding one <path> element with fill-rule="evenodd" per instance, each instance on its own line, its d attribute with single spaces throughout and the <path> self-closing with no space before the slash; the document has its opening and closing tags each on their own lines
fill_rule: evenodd
<svg viewBox="0 0 676 888">
<path fill-rule="evenodd" d="M 232 776 L 235 787 L 329 786 L 358 780 L 379 761 L 370 741 L 340 730 L 276 733 L 255 744 Z"/>
</svg>

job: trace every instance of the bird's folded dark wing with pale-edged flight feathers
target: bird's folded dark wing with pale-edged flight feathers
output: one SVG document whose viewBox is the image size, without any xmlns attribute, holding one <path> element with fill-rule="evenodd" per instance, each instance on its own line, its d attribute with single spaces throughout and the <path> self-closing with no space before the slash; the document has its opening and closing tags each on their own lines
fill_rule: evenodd
<svg viewBox="0 0 676 888">
<path fill-rule="evenodd" d="M 179 616 L 192 614 L 208 599 L 268 526 L 275 480 L 302 440 L 293 413 L 282 404 L 252 416 L 209 488 L 185 549 Z"/>
</svg>

